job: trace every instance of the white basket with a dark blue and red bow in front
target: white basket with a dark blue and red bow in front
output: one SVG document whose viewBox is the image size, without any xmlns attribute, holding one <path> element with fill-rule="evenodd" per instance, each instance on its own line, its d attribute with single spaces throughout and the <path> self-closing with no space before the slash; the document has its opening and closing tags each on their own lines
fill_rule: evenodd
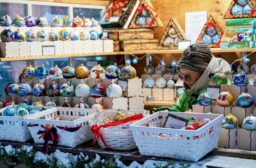
<svg viewBox="0 0 256 168">
<path fill-rule="evenodd" d="M 37 133 L 39 130 L 45 131 L 41 124 L 48 124 L 49 126 L 56 128 L 57 133 L 61 137 L 58 145 L 74 148 L 77 145 L 94 138 L 90 131 L 88 120 L 95 112 L 95 109 L 57 107 L 28 117 L 25 121 L 27 124 L 30 124 L 28 128 L 34 139 L 34 143 L 44 143 L 43 138 L 39 139 L 41 134 Z M 55 117 L 60 117 L 62 120 L 50 120 Z M 60 127 L 77 128 L 77 130 L 71 132 L 61 129 Z M 49 141 L 49 143 L 52 143 L 52 141 Z"/>
</svg>

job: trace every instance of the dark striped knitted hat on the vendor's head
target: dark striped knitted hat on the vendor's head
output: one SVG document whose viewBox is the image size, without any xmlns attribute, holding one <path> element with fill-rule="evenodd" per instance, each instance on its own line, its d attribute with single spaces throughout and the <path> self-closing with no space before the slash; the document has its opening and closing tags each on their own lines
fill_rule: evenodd
<svg viewBox="0 0 256 168">
<path fill-rule="evenodd" d="M 207 44 L 195 42 L 184 50 L 182 56 L 176 66 L 179 68 L 187 68 L 198 73 L 203 73 L 212 59 L 212 53 Z"/>
</svg>

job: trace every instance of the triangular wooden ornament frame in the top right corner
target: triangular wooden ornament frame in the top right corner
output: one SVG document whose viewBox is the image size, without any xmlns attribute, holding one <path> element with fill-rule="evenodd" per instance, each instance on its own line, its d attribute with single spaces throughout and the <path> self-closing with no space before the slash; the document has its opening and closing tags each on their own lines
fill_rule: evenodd
<svg viewBox="0 0 256 168">
<path fill-rule="evenodd" d="M 227 10 L 227 12 L 225 13 L 223 19 L 234 19 L 234 18 L 252 18 L 252 17 L 256 17 L 256 2 L 255 0 L 247 0 L 247 4 L 249 4 L 249 6 L 251 7 L 252 12 L 250 14 L 232 14 L 231 10 L 232 7 L 235 5 L 239 5 L 238 3 L 236 3 L 236 0 L 232 0 L 229 8 Z M 242 6 L 244 7 L 244 6 Z"/>
</svg>

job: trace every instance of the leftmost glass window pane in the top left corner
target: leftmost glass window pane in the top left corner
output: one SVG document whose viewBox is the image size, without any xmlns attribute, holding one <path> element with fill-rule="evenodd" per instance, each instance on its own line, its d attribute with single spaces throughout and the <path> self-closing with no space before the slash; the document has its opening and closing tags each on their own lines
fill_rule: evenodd
<svg viewBox="0 0 256 168">
<path fill-rule="evenodd" d="M 25 4 L 0 2 L 0 17 L 4 15 L 9 15 L 12 19 L 16 17 L 16 15 L 25 17 L 27 15 L 27 7 Z"/>
</svg>

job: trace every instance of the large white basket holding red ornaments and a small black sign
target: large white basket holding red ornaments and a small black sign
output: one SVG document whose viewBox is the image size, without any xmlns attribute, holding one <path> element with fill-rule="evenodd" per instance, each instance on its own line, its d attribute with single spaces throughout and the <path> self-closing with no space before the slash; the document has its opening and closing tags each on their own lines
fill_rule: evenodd
<svg viewBox="0 0 256 168">
<path fill-rule="evenodd" d="M 161 128 L 168 113 L 182 118 L 192 117 L 195 122 L 204 122 L 205 125 L 196 131 Z M 222 120 L 220 114 L 156 112 L 131 124 L 130 130 L 142 156 L 197 162 L 218 146 Z"/>
</svg>

